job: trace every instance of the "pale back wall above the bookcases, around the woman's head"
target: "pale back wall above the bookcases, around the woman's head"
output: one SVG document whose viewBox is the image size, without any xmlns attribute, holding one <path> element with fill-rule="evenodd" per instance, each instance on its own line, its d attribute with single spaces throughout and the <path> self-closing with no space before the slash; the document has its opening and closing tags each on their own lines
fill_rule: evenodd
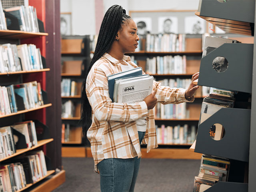
<svg viewBox="0 0 256 192">
<path fill-rule="evenodd" d="M 103 0 L 104 13 L 114 4 L 129 11 L 197 10 L 199 0 Z M 95 34 L 94 0 L 60 0 L 60 12 L 72 12 L 72 34 Z"/>
</svg>

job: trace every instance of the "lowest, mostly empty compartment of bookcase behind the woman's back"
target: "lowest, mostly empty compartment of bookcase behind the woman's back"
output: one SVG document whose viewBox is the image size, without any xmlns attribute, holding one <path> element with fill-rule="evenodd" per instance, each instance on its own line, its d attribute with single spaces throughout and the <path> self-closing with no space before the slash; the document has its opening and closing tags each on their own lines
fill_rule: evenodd
<svg viewBox="0 0 256 192">
<path fill-rule="evenodd" d="M 82 128 L 70 124 L 62 124 L 61 142 L 82 142 Z"/>
</svg>

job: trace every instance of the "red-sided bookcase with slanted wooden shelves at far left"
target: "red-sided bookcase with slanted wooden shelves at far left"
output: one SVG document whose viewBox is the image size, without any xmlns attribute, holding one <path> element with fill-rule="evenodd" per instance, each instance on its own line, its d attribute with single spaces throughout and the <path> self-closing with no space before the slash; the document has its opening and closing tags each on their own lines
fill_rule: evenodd
<svg viewBox="0 0 256 192">
<path fill-rule="evenodd" d="M 54 88 L 54 84 L 58 81 L 55 73 L 60 72 L 60 67 L 56 68 L 55 63 L 60 62 L 60 54 L 57 48 L 60 48 L 59 27 L 60 24 L 60 2 L 45 0 L 29 0 L 29 5 L 34 6 L 37 10 L 37 17 L 45 27 L 46 32 L 24 32 L 19 30 L 1 30 L 0 44 L 35 44 L 40 48 L 41 55 L 44 56 L 46 68 L 33 71 L 8 72 L 0 74 L 0 86 L 18 84 L 23 82 L 37 81 L 40 82 L 42 90 L 46 90 L 44 101 L 45 104 L 38 108 L 29 110 L 20 110 L 16 113 L 0 116 L 0 124 L 2 126 L 10 126 L 15 122 L 24 120 L 40 121 L 48 126 L 48 138 L 38 140 L 38 145 L 32 148 L 23 148 L 16 150 L 12 156 L 1 159 L 1 163 L 12 160 L 25 152 L 32 150 L 43 150 L 46 158 L 48 170 L 47 175 L 36 183 L 27 184 L 25 188 L 18 191 L 46 191 L 50 192 L 65 182 L 65 171 L 61 162 L 61 142 L 59 139 L 58 126 L 60 122 L 56 121 L 56 116 L 60 116 L 59 100 L 56 100 L 56 92 L 60 93 L 59 88 Z M 46 9 L 47 8 L 47 9 Z M 57 51 L 56 51 L 57 50 Z M 59 76 L 58 76 L 59 77 Z M 51 82 L 52 84 L 49 84 Z M 59 90 L 58 90 L 59 89 Z M 48 99 L 47 99 L 48 98 Z M 41 125 L 42 125 L 41 124 Z"/>
</svg>

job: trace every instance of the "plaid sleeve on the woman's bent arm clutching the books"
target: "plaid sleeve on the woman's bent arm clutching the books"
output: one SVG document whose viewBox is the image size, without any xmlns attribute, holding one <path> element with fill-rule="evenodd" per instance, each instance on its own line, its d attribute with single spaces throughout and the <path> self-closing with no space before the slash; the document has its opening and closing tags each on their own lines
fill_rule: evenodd
<svg viewBox="0 0 256 192">
<path fill-rule="evenodd" d="M 95 64 L 94 64 L 95 65 Z M 104 66 L 93 67 L 86 80 L 86 94 L 99 121 L 130 122 L 148 115 L 144 101 L 134 104 L 112 102 Z"/>
</svg>

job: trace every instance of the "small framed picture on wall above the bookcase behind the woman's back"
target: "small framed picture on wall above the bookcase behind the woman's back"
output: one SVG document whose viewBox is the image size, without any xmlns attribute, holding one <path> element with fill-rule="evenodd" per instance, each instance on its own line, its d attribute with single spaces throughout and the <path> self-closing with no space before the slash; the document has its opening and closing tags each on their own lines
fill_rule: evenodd
<svg viewBox="0 0 256 192">
<path fill-rule="evenodd" d="M 71 12 L 60 13 L 60 34 L 72 35 Z"/>
</svg>

